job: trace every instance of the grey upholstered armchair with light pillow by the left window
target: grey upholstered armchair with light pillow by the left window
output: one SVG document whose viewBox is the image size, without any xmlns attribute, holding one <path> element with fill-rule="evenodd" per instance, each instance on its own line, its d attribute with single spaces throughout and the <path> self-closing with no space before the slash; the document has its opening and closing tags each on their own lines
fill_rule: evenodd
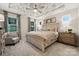
<svg viewBox="0 0 79 59">
<path fill-rule="evenodd" d="M 19 34 L 17 32 L 7 32 L 5 35 L 5 44 L 15 44 L 19 41 Z"/>
</svg>

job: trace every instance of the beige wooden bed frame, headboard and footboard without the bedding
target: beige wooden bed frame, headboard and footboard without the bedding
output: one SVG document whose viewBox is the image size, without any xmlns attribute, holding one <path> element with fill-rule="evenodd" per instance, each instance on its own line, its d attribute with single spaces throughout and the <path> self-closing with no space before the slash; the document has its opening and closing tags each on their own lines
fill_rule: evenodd
<svg viewBox="0 0 79 59">
<path fill-rule="evenodd" d="M 48 19 L 47 19 L 48 20 Z M 55 31 L 58 32 L 58 23 L 55 22 L 47 22 L 47 20 L 44 20 L 44 24 L 42 25 L 42 30 L 48 30 L 48 31 Z M 27 42 L 33 44 L 37 48 L 41 49 L 43 52 L 45 52 L 45 48 L 55 41 L 50 41 L 46 44 L 46 41 L 43 37 L 40 37 L 38 35 L 26 35 Z M 57 38 L 55 39 L 57 40 Z"/>
</svg>

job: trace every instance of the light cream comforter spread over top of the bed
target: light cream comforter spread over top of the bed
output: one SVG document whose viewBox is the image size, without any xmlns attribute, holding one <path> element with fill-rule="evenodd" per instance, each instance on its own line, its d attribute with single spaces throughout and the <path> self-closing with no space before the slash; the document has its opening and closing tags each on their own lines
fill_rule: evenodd
<svg viewBox="0 0 79 59">
<path fill-rule="evenodd" d="M 49 39 L 55 39 L 58 37 L 58 32 L 53 32 L 53 31 L 32 31 L 28 32 L 28 35 L 38 35 L 40 37 L 43 37 L 48 41 Z"/>
</svg>

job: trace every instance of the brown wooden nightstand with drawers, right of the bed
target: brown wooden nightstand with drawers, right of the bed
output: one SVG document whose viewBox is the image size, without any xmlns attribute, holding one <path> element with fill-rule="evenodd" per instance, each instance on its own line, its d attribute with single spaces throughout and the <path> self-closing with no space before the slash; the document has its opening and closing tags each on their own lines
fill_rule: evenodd
<svg viewBox="0 0 79 59">
<path fill-rule="evenodd" d="M 58 42 L 76 46 L 75 33 L 59 32 Z"/>
</svg>

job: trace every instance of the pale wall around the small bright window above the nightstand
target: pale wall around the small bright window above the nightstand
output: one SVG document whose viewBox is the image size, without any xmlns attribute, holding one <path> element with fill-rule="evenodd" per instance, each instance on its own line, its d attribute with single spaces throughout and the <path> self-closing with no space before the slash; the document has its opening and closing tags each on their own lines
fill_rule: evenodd
<svg viewBox="0 0 79 59">
<path fill-rule="evenodd" d="M 64 15 L 69 15 L 71 17 L 71 21 L 69 22 L 69 26 L 72 27 L 73 32 L 76 32 L 77 31 L 77 17 L 78 17 L 77 8 L 54 15 L 57 19 L 57 22 L 60 23 L 60 31 L 66 31 L 66 28 L 64 28 L 64 26 L 66 24 L 63 25 L 63 22 L 62 22 L 63 21 L 62 17 Z"/>
</svg>

